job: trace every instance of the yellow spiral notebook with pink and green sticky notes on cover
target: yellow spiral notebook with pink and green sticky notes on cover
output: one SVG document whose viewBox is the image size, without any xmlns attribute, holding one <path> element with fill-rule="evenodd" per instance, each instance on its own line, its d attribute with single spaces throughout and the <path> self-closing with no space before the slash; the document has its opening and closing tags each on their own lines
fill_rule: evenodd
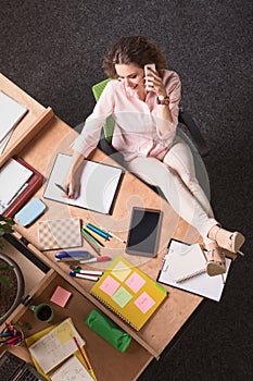
<svg viewBox="0 0 253 381">
<path fill-rule="evenodd" d="M 137 331 L 167 296 L 164 287 L 123 256 L 114 259 L 90 293 Z"/>
</svg>

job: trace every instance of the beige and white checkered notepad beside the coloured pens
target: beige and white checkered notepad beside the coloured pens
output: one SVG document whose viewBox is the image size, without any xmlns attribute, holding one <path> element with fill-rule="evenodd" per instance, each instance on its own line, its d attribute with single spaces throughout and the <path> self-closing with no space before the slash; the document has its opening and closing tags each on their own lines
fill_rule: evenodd
<svg viewBox="0 0 253 381">
<path fill-rule="evenodd" d="M 81 246 L 78 218 L 39 221 L 37 226 L 41 250 Z"/>
</svg>

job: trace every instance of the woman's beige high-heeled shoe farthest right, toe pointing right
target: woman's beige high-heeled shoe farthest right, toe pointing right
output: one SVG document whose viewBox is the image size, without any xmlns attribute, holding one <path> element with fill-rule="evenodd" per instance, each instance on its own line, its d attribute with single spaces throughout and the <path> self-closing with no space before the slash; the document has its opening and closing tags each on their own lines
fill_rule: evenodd
<svg viewBox="0 0 253 381">
<path fill-rule="evenodd" d="M 245 241 L 241 233 L 232 233 L 219 228 L 218 225 L 215 225 L 210 230 L 208 238 L 214 239 L 219 247 L 226 248 L 232 253 L 240 253 L 239 250 Z"/>
</svg>

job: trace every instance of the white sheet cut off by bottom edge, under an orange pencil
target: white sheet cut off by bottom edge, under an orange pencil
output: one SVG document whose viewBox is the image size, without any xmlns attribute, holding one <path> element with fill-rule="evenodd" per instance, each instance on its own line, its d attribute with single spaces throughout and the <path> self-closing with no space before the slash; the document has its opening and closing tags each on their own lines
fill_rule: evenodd
<svg viewBox="0 0 253 381">
<path fill-rule="evenodd" d="M 76 356 L 72 356 L 50 378 L 51 381 L 93 381 Z"/>
</svg>

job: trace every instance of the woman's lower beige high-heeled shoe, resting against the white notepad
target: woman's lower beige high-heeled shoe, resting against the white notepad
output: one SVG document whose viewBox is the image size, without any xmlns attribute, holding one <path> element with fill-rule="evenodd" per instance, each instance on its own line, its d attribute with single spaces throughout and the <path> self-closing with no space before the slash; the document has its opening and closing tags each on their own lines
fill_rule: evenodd
<svg viewBox="0 0 253 381">
<path fill-rule="evenodd" d="M 220 275 L 226 272 L 226 258 L 214 239 L 205 238 L 206 272 L 210 276 Z"/>
</svg>

